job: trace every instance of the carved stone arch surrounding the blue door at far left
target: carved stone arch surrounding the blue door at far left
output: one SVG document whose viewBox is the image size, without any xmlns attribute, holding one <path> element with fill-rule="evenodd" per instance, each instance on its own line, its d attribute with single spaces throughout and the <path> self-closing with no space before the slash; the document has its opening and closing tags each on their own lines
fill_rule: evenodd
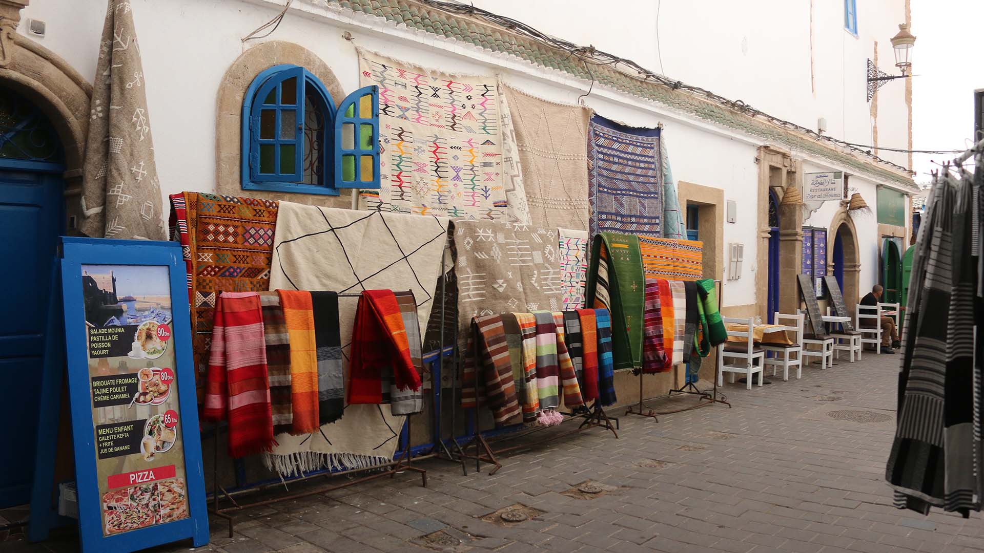
<svg viewBox="0 0 984 553">
<path fill-rule="evenodd" d="M 79 220 L 92 85 L 61 56 L 17 33 L 28 3 L 0 0 L 0 85 L 30 100 L 54 125 L 65 149 L 65 213 L 68 221 Z M 73 230 L 70 223 L 66 228 Z"/>
</svg>

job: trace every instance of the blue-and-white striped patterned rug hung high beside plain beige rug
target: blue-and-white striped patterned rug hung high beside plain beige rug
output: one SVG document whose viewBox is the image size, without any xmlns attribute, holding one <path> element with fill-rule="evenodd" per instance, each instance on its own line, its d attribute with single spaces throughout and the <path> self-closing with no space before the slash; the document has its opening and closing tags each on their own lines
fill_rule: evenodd
<svg viewBox="0 0 984 553">
<path fill-rule="evenodd" d="M 591 235 L 662 235 L 660 129 L 627 127 L 595 115 L 587 135 Z"/>
</svg>

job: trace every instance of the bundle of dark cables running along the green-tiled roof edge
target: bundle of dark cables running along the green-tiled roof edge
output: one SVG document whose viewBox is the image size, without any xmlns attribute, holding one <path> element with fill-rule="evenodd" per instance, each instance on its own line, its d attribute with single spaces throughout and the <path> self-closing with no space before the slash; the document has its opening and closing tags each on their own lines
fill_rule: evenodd
<svg viewBox="0 0 984 553">
<path fill-rule="evenodd" d="M 741 99 L 732 100 L 715 92 L 710 92 L 707 89 L 702 89 L 701 87 L 695 87 L 693 85 L 688 85 L 682 81 L 675 81 L 672 79 L 668 79 L 663 75 L 660 75 L 658 73 L 646 69 L 645 67 L 639 65 L 638 63 L 636 63 L 631 59 L 623 58 L 620 56 L 616 56 L 614 54 L 610 54 L 608 52 L 604 52 L 602 50 L 598 50 L 593 46 L 581 46 L 579 44 L 575 44 L 568 40 L 564 40 L 563 38 L 551 36 L 549 34 L 546 34 L 545 32 L 538 31 L 520 21 L 514 20 L 512 18 L 508 18 L 506 16 L 500 16 L 498 14 L 494 14 L 492 12 L 483 10 L 481 8 L 476 8 L 475 6 L 470 4 L 459 4 L 456 2 L 447 2 L 444 0 L 416 0 L 416 1 L 420 2 L 423 5 L 430 6 L 432 8 L 436 8 L 446 12 L 463 14 L 467 16 L 474 16 L 490 23 L 491 25 L 505 28 L 508 31 L 513 31 L 521 36 L 530 38 L 532 40 L 540 42 L 541 44 L 547 45 L 551 48 L 571 52 L 572 54 L 577 55 L 579 58 L 582 59 L 582 61 L 585 64 L 585 68 L 587 67 L 587 64 L 592 64 L 596 66 L 620 64 L 638 73 L 638 75 L 633 75 L 632 73 L 629 73 L 624 69 L 619 68 L 619 71 L 628 77 L 645 82 L 654 82 L 656 84 L 668 87 L 673 91 L 682 91 L 682 92 L 690 93 L 692 95 L 700 96 L 708 101 L 727 107 L 734 111 L 744 113 L 745 115 L 748 115 L 750 117 L 764 119 L 766 121 L 769 121 L 769 123 L 781 127 L 785 130 L 796 131 L 799 133 L 809 135 L 815 141 L 829 142 L 830 144 L 834 144 L 836 146 L 853 151 L 855 153 L 864 154 L 873 160 L 876 160 L 881 163 L 885 163 L 886 165 L 890 165 L 899 171 L 904 171 L 905 173 L 908 174 L 912 173 L 912 171 L 910 171 L 907 167 L 903 167 L 898 163 L 894 163 L 892 161 L 889 161 L 888 159 L 884 159 L 882 157 L 879 157 L 878 155 L 872 154 L 869 150 L 864 150 L 865 148 L 874 149 L 875 147 L 871 147 L 871 146 L 859 147 L 847 141 L 822 135 L 813 129 L 803 127 L 802 125 L 798 125 L 796 123 L 787 121 L 785 119 L 780 119 L 778 117 L 775 117 L 774 115 L 769 115 L 769 113 L 756 109 Z M 662 69 L 661 60 L 660 60 L 660 69 Z M 593 86 L 593 81 L 595 79 L 595 76 L 590 71 L 588 71 L 588 74 L 591 77 L 592 86 Z M 886 150 L 892 152 L 907 152 L 902 150 L 890 150 L 890 149 L 883 149 L 883 148 L 879 148 L 879 150 Z M 945 153 L 944 151 L 939 151 L 939 152 Z"/>
</svg>

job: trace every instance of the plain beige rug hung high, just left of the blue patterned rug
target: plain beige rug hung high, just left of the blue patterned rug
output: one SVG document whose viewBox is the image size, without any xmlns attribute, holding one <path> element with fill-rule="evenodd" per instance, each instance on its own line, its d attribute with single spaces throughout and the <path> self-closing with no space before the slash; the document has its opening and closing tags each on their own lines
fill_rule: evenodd
<svg viewBox="0 0 984 553">
<path fill-rule="evenodd" d="M 591 110 L 502 85 L 516 132 L 531 223 L 587 229 L 587 122 Z"/>
</svg>

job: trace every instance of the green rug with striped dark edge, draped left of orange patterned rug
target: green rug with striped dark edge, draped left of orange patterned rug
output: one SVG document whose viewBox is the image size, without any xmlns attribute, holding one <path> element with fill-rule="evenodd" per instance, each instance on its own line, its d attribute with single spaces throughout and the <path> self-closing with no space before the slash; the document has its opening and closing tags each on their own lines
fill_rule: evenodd
<svg viewBox="0 0 984 553">
<path fill-rule="evenodd" d="M 607 303 L 603 293 L 605 267 L 608 276 Z M 611 312 L 615 368 L 641 367 L 646 277 L 643 275 L 638 236 L 615 232 L 602 232 L 594 236 L 584 298 L 587 305 L 608 308 Z"/>
</svg>

